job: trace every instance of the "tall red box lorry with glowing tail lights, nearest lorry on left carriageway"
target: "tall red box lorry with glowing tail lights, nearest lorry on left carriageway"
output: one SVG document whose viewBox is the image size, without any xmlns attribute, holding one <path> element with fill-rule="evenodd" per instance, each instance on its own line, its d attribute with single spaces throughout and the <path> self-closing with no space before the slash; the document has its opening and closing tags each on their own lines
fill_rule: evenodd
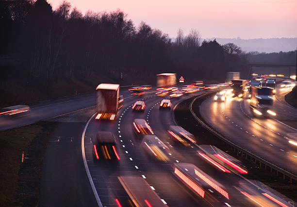
<svg viewBox="0 0 297 207">
<path fill-rule="evenodd" d="M 119 102 L 118 84 L 99 84 L 96 88 L 96 120 L 114 120 Z"/>
</svg>

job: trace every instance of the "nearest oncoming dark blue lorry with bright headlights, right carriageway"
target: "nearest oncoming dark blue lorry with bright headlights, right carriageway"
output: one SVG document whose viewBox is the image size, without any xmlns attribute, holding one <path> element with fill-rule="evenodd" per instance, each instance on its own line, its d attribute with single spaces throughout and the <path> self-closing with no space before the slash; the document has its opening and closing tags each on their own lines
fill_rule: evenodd
<svg viewBox="0 0 297 207">
<path fill-rule="evenodd" d="M 251 86 L 249 106 L 253 116 L 259 117 L 268 114 L 276 116 L 276 113 L 272 110 L 274 100 L 272 90 L 272 88 L 266 86 Z"/>
</svg>

